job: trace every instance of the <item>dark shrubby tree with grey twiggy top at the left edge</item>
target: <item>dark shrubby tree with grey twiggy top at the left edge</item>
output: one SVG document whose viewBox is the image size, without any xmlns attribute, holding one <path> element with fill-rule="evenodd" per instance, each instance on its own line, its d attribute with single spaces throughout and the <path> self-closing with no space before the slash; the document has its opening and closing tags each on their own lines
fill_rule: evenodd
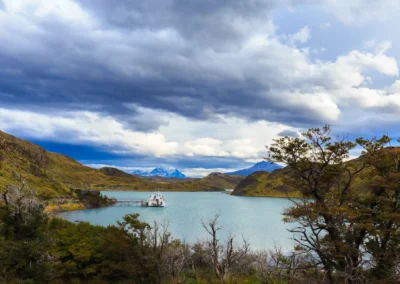
<svg viewBox="0 0 400 284">
<path fill-rule="evenodd" d="M 45 282 L 53 275 L 48 218 L 26 181 L 2 190 L 0 202 L 0 282 L 14 278 Z"/>
</svg>

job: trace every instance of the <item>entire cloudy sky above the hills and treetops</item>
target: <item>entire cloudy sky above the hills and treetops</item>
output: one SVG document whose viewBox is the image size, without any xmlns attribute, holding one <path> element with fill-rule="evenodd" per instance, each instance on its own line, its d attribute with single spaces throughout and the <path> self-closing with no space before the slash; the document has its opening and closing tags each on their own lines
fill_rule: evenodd
<svg viewBox="0 0 400 284">
<path fill-rule="evenodd" d="M 397 0 L 0 0 L 0 129 L 92 167 L 188 176 L 251 166 L 324 124 L 397 139 L 399 13 Z"/>
</svg>

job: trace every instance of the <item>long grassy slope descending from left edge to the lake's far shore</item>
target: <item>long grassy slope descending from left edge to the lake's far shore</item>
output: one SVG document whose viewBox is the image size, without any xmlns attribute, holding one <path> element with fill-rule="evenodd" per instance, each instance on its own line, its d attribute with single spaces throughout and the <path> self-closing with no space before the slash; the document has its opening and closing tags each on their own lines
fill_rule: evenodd
<svg viewBox="0 0 400 284">
<path fill-rule="evenodd" d="M 241 178 L 224 175 L 182 182 L 147 181 L 112 168 L 93 169 L 0 131 L 0 189 L 22 175 L 42 197 L 71 195 L 70 188 L 201 191 L 233 188 Z"/>
</svg>

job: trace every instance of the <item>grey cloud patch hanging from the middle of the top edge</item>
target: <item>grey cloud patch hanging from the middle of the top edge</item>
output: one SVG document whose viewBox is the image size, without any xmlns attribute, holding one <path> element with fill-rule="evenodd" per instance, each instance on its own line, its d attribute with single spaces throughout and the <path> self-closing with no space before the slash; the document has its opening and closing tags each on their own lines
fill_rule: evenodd
<svg viewBox="0 0 400 284">
<path fill-rule="evenodd" d="M 126 29 L 171 28 L 196 44 L 214 47 L 224 43 L 225 47 L 235 42 L 240 44 L 248 32 L 241 29 L 240 22 L 255 28 L 266 22 L 268 13 L 278 5 L 277 0 L 79 2 L 105 24 Z"/>
</svg>

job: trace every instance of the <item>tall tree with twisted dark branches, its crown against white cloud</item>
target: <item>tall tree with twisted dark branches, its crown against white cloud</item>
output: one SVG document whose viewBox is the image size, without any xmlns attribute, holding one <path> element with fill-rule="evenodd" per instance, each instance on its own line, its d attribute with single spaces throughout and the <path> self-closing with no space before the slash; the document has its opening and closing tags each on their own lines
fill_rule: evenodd
<svg viewBox="0 0 400 284">
<path fill-rule="evenodd" d="M 289 183 L 303 194 L 284 212 L 302 250 L 315 254 L 327 283 L 356 282 L 363 260 L 366 228 L 359 222 L 357 192 L 352 187 L 364 165 L 345 163 L 356 144 L 333 141 L 330 127 L 312 128 L 304 138 L 284 137 L 269 147 L 269 159 L 287 165 Z"/>
</svg>

